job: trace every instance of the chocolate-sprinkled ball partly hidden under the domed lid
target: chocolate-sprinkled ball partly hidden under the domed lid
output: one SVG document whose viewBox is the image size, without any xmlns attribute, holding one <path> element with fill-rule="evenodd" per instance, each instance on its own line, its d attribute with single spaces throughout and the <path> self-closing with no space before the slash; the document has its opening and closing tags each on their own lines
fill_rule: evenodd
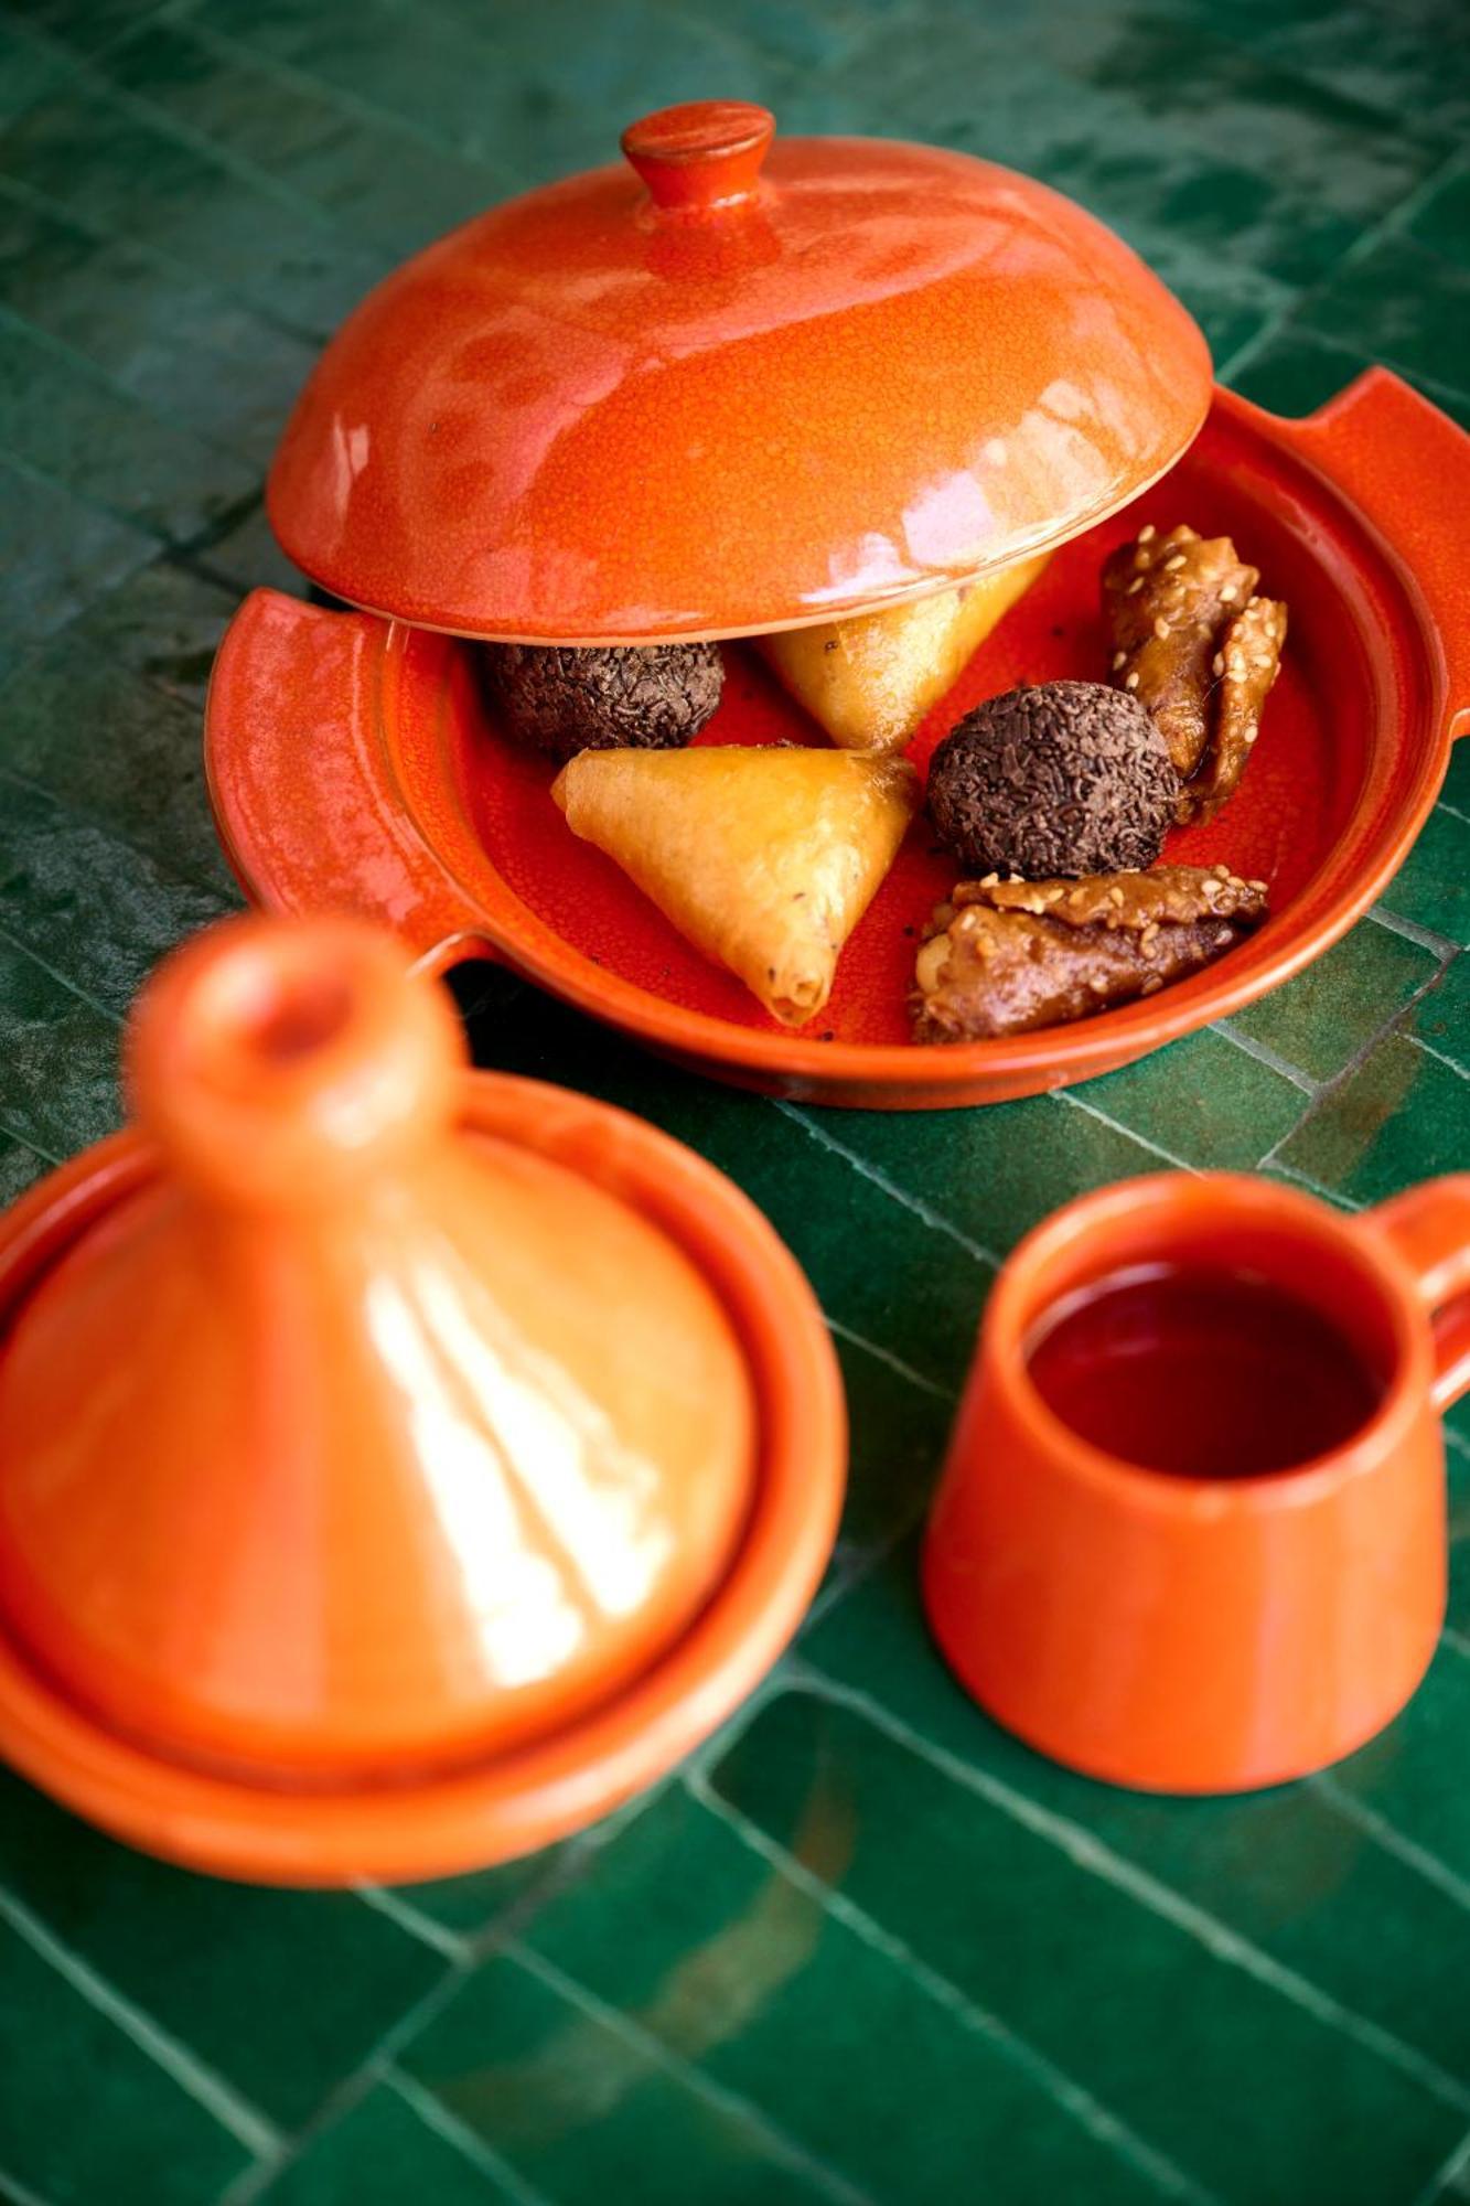
<svg viewBox="0 0 1470 2206">
<path fill-rule="evenodd" d="M 720 704 L 715 644 L 486 644 L 486 682 L 505 730 L 550 757 L 678 750 Z"/>
</svg>

